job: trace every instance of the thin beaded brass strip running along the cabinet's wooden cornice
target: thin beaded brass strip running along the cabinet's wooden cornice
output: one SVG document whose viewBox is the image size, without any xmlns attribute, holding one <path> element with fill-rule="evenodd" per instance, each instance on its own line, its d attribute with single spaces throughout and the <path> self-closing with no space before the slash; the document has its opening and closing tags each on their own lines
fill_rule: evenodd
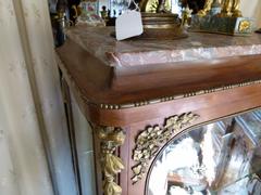
<svg viewBox="0 0 261 195">
<path fill-rule="evenodd" d="M 195 92 L 185 93 L 185 94 L 164 96 L 161 99 L 156 99 L 156 100 L 150 100 L 150 101 L 142 101 L 142 102 L 136 102 L 136 103 L 129 103 L 129 104 L 121 104 L 121 105 L 100 104 L 99 106 L 100 106 L 100 108 L 103 108 L 103 109 L 123 109 L 123 108 L 130 108 L 130 107 L 139 107 L 139 106 L 145 106 L 145 105 L 149 105 L 149 104 L 156 104 L 156 103 L 167 102 L 167 101 L 173 101 L 173 100 L 178 100 L 178 99 L 184 99 L 184 98 L 189 98 L 189 96 L 208 94 L 208 93 L 213 93 L 213 92 L 217 92 L 217 91 L 225 91 L 225 90 L 229 90 L 229 89 L 234 89 L 234 88 L 251 86 L 251 84 L 257 84 L 257 83 L 261 83 L 261 80 L 254 80 L 254 81 L 224 86 L 224 87 L 220 87 L 220 88 L 200 90 L 200 91 L 195 91 Z"/>
</svg>

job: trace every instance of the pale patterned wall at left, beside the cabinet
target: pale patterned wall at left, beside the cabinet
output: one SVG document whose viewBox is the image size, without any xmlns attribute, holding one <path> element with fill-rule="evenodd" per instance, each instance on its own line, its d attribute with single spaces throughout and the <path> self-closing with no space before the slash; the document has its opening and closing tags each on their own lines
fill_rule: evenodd
<svg viewBox="0 0 261 195">
<path fill-rule="evenodd" d="M 0 195 L 76 195 L 47 1 L 0 0 Z"/>
</svg>

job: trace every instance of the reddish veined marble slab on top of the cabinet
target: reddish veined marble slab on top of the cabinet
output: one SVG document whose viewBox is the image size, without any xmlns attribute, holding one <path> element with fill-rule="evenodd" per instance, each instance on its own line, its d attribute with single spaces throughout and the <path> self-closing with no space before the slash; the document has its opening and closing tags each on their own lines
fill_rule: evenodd
<svg viewBox="0 0 261 195">
<path fill-rule="evenodd" d="M 76 26 L 70 39 L 109 66 L 135 66 L 261 54 L 261 35 L 233 37 L 190 32 L 179 40 L 124 40 L 111 37 L 112 27 Z"/>
</svg>

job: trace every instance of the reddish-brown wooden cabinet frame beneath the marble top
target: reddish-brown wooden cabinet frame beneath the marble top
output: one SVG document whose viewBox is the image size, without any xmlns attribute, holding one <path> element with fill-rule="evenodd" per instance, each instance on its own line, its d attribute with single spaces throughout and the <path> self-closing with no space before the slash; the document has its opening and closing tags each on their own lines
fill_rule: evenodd
<svg viewBox="0 0 261 195">
<path fill-rule="evenodd" d="M 62 77 L 94 127 L 98 194 L 145 194 L 153 157 L 174 136 L 261 107 L 261 55 L 113 67 L 72 40 L 57 52 Z M 138 136 L 149 127 L 164 129 L 171 117 L 186 122 L 173 123 L 134 182 Z"/>
</svg>

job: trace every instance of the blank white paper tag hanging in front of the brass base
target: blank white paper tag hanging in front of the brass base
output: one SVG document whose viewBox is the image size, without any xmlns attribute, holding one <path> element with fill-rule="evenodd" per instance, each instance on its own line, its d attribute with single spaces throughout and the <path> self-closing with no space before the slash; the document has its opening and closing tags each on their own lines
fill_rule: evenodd
<svg viewBox="0 0 261 195">
<path fill-rule="evenodd" d="M 144 32 L 140 12 L 127 10 L 116 18 L 116 39 L 124 40 Z"/>
</svg>

